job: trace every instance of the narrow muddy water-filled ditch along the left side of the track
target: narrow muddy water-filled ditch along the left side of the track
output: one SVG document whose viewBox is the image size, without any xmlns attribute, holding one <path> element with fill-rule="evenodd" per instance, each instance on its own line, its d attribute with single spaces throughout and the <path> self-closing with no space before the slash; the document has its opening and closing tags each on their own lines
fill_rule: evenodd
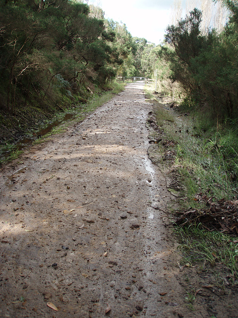
<svg viewBox="0 0 238 318">
<path fill-rule="evenodd" d="M 31 146 L 35 140 L 37 140 L 38 138 L 40 138 L 42 136 L 45 136 L 46 134 L 51 132 L 53 128 L 59 126 L 60 124 L 62 124 L 63 122 L 66 122 L 69 119 L 73 119 L 74 117 L 75 117 L 74 114 L 65 114 L 65 116 L 61 120 L 56 120 L 56 121 L 50 123 L 47 127 L 44 127 L 42 129 L 40 129 L 39 131 L 33 133 L 32 137 L 28 137 L 28 138 L 24 138 L 22 140 L 19 140 L 17 143 L 15 143 L 16 148 L 14 149 L 14 151 L 15 150 L 23 150 L 27 146 Z M 0 159 L 7 158 L 8 156 L 11 155 L 11 153 L 12 153 L 12 150 L 0 153 Z"/>
</svg>

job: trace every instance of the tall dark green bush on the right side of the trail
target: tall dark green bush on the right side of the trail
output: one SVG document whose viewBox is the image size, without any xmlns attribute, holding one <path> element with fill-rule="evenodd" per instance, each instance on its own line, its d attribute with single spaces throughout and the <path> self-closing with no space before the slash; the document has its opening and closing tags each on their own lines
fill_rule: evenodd
<svg viewBox="0 0 238 318">
<path fill-rule="evenodd" d="M 238 6 L 226 0 L 230 20 L 221 33 L 201 32 L 202 13 L 194 9 L 167 28 L 162 47 L 170 79 L 178 81 L 189 105 L 224 123 L 238 117 Z"/>
</svg>

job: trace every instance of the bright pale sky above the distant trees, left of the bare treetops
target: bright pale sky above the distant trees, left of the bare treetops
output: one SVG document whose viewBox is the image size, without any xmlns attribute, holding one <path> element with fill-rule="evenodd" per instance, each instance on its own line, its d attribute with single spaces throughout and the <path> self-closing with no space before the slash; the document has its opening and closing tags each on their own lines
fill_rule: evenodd
<svg viewBox="0 0 238 318">
<path fill-rule="evenodd" d="M 170 24 L 174 0 L 89 0 L 100 6 L 105 18 L 122 22 L 133 37 L 160 44 Z"/>
</svg>

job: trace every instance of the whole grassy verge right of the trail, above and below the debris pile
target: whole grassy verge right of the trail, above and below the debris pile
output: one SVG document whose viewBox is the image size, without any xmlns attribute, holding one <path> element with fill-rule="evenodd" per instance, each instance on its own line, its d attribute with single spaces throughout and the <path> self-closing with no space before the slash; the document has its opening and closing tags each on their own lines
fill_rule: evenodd
<svg viewBox="0 0 238 318">
<path fill-rule="evenodd" d="M 162 104 L 161 98 L 160 102 L 156 101 L 156 96 L 153 95 L 153 103 L 156 107 L 157 124 L 163 131 L 163 138 L 176 141 L 174 160 L 169 164 L 175 173 L 174 179 L 179 180 L 182 186 L 172 218 L 175 218 L 177 211 L 189 209 L 198 209 L 201 215 L 205 215 L 203 208 L 206 201 L 199 200 L 198 197 L 207 197 L 213 202 L 230 200 L 236 206 L 236 130 L 231 126 L 219 127 L 219 130 L 204 130 L 202 123 L 194 119 L 194 114 L 192 117 L 188 113 L 171 110 L 169 103 Z M 158 151 L 165 151 L 161 143 L 158 145 Z M 216 272 L 218 281 L 222 281 L 224 286 L 238 284 L 238 219 L 237 214 L 231 217 L 234 217 L 233 227 L 236 230 L 233 236 L 226 234 L 225 227 L 224 233 L 211 231 L 196 221 L 188 220 L 185 225 L 175 225 L 180 249 L 184 255 L 184 265 L 198 265 L 203 271 L 209 269 Z"/>
</svg>

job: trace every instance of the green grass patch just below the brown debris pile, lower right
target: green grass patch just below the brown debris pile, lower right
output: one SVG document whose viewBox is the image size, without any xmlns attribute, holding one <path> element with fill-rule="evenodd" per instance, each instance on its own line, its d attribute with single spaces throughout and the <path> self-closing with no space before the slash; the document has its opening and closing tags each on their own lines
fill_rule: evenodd
<svg viewBox="0 0 238 318">
<path fill-rule="evenodd" d="M 206 271 L 207 265 L 212 269 L 229 271 L 226 284 L 237 284 L 238 273 L 238 240 L 219 232 L 208 232 L 201 224 L 176 227 L 179 248 L 184 253 L 183 265 L 199 264 Z M 224 283 L 224 281 L 223 281 Z"/>
</svg>

